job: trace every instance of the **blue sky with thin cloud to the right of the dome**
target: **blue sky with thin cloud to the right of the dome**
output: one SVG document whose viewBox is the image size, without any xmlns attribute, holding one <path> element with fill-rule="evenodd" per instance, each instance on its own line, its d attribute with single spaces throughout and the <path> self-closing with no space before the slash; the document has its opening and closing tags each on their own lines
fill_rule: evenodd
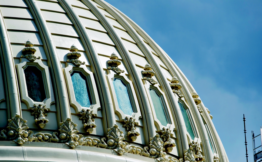
<svg viewBox="0 0 262 162">
<path fill-rule="evenodd" d="M 262 126 L 262 1 L 106 0 L 174 60 L 211 111 L 230 161 Z M 261 149 L 260 149 L 261 150 Z"/>
</svg>

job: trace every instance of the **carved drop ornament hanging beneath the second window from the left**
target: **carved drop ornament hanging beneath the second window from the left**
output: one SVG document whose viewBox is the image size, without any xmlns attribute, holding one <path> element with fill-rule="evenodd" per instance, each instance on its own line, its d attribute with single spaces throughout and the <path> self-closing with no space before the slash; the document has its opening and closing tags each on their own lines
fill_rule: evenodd
<svg viewBox="0 0 262 162">
<path fill-rule="evenodd" d="M 79 119 L 84 122 L 84 128 L 86 129 L 86 132 L 92 133 L 94 130 L 93 128 L 96 127 L 94 123 L 95 120 L 93 119 L 93 116 L 95 116 L 95 114 L 93 114 L 93 110 L 82 109 L 82 111 L 80 112 L 80 115 L 81 117 Z"/>
</svg>

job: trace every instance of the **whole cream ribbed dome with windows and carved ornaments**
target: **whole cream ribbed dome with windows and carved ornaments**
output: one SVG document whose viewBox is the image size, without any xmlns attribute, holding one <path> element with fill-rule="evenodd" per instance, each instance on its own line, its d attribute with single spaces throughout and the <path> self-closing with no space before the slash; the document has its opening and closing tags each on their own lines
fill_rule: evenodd
<svg viewBox="0 0 262 162">
<path fill-rule="evenodd" d="M 192 85 L 121 11 L 102 0 L 0 11 L 0 160 L 228 161 Z"/>
</svg>

